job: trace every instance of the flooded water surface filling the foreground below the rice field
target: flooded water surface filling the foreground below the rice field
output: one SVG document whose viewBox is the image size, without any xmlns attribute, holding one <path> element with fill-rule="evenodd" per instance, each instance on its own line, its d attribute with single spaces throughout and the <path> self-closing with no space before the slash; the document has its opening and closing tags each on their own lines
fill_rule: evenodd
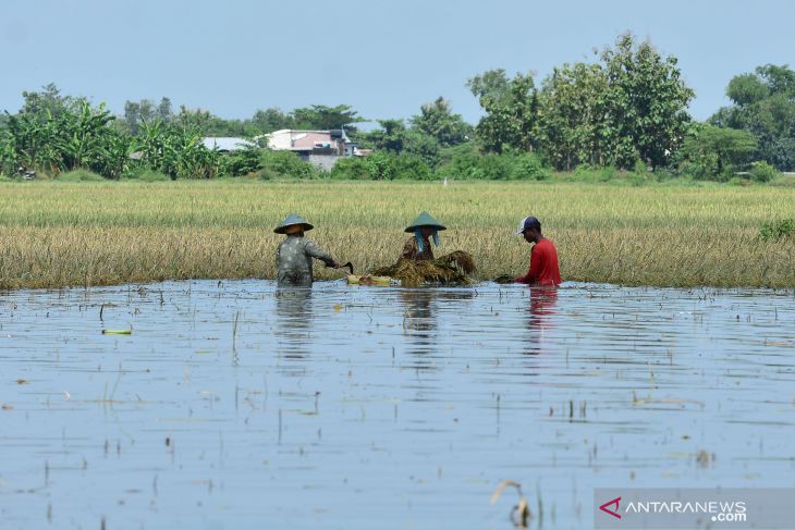
<svg viewBox="0 0 795 530">
<path fill-rule="evenodd" d="M 14 528 L 589 528 L 595 486 L 793 486 L 795 295 L 257 281 L 0 295 Z M 102 335 L 132 328 L 131 335 Z"/>
</svg>

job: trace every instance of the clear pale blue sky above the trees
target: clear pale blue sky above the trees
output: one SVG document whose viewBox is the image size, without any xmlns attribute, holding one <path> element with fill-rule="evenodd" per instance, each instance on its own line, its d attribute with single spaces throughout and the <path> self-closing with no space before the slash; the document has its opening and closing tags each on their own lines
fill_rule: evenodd
<svg viewBox="0 0 795 530">
<path fill-rule="evenodd" d="M 784 0 L 3 0 L 0 110 L 54 82 L 118 113 L 168 96 L 223 118 L 313 103 L 407 118 L 444 96 L 476 122 L 468 77 L 502 67 L 540 81 L 631 30 L 680 59 L 705 119 L 732 76 L 795 65 L 793 20 Z"/>
</svg>

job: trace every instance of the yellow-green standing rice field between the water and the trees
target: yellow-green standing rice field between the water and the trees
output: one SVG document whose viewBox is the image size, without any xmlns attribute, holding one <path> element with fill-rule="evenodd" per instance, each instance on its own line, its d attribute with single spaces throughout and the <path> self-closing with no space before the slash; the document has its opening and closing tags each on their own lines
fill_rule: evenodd
<svg viewBox="0 0 795 530">
<path fill-rule="evenodd" d="M 795 189 L 554 182 L 167 182 L 0 184 L 0 287 L 187 278 L 273 278 L 273 226 L 291 211 L 357 271 L 393 263 L 421 210 L 448 226 L 439 254 L 472 254 L 476 279 L 518 275 L 534 214 L 564 280 L 669 286 L 795 286 Z M 343 272 L 319 267 L 320 279 Z"/>
</svg>

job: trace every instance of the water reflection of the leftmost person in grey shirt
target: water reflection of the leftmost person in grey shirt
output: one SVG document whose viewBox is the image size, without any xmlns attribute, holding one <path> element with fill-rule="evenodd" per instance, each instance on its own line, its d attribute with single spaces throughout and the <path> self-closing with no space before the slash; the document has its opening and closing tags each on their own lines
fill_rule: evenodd
<svg viewBox="0 0 795 530">
<path fill-rule="evenodd" d="M 311 288 L 283 287 L 276 292 L 279 352 L 286 358 L 303 359 L 309 353 L 306 345 L 313 326 Z"/>
</svg>

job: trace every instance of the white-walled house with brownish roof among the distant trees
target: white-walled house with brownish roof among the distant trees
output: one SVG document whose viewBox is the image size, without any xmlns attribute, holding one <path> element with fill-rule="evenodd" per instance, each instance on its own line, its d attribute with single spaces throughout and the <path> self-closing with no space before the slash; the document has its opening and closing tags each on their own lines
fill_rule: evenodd
<svg viewBox="0 0 795 530">
<path fill-rule="evenodd" d="M 283 128 L 267 135 L 268 147 L 274 151 L 292 151 L 302 160 L 330 170 L 342 157 L 363 156 L 358 144 L 342 128 L 330 131 L 294 131 Z"/>
</svg>

